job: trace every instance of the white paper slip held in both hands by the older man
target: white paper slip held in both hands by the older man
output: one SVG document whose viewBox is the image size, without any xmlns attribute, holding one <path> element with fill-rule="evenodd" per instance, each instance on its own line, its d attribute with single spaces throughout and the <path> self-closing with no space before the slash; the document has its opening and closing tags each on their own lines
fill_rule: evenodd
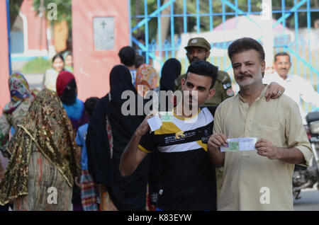
<svg viewBox="0 0 319 225">
<path fill-rule="evenodd" d="M 230 138 L 230 139 L 227 139 L 227 141 L 228 141 L 228 147 L 220 146 L 220 151 L 252 151 L 252 150 L 256 150 L 254 145 L 257 142 L 257 137 Z"/>
</svg>

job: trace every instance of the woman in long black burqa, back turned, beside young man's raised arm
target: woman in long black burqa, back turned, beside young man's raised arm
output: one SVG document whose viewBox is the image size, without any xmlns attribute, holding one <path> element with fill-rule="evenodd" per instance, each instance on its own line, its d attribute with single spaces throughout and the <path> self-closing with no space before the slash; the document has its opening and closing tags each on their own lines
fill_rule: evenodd
<svg viewBox="0 0 319 225">
<path fill-rule="evenodd" d="M 106 188 L 116 209 L 145 210 L 150 157 L 130 176 L 123 177 L 119 172 L 121 154 L 145 117 L 137 115 L 141 97 L 133 86 L 130 71 L 123 65 L 111 70 L 110 86 L 111 91 L 96 105 L 89 122 L 86 136 L 89 172 L 96 184 Z M 123 91 L 133 93 L 130 100 L 135 100 L 135 105 L 130 107 L 135 108 L 135 115 L 123 115 L 122 105 L 127 100 L 121 98 Z"/>
</svg>

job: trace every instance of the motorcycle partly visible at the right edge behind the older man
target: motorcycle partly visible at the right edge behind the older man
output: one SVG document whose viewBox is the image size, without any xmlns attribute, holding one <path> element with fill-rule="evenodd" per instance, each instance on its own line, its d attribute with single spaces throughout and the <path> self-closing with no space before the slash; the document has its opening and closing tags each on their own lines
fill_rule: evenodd
<svg viewBox="0 0 319 225">
<path fill-rule="evenodd" d="M 296 200 L 299 197 L 301 190 L 313 188 L 317 184 L 319 190 L 319 111 L 313 111 L 306 116 L 307 125 L 305 129 L 308 135 L 313 157 L 310 159 L 308 167 L 295 166 L 293 172 L 293 197 Z"/>
</svg>

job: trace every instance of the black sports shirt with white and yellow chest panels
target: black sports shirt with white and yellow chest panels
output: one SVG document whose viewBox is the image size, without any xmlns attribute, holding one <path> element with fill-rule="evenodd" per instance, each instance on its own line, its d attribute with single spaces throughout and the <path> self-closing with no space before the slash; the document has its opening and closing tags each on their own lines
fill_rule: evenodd
<svg viewBox="0 0 319 225">
<path fill-rule="evenodd" d="M 207 156 L 212 132 L 213 115 L 203 108 L 186 120 L 174 115 L 142 137 L 142 151 L 159 151 L 159 209 L 216 210 L 215 167 Z"/>
</svg>

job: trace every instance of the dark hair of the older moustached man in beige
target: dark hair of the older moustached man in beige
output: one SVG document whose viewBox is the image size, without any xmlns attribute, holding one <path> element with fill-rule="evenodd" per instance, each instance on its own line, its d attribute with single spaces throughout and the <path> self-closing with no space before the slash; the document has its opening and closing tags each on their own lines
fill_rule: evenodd
<svg viewBox="0 0 319 225">
<path fill-rule="evenodd" d="M 232 59 L 233 54 L 242 53 L 247 50 L 256 50 L 259 53 L 260 61 L 264 61 L 264 48 L 257 40 L 251 37 L 242 37 L 231 43 L 228 47 L 228 57 Z"/>
</svg>

